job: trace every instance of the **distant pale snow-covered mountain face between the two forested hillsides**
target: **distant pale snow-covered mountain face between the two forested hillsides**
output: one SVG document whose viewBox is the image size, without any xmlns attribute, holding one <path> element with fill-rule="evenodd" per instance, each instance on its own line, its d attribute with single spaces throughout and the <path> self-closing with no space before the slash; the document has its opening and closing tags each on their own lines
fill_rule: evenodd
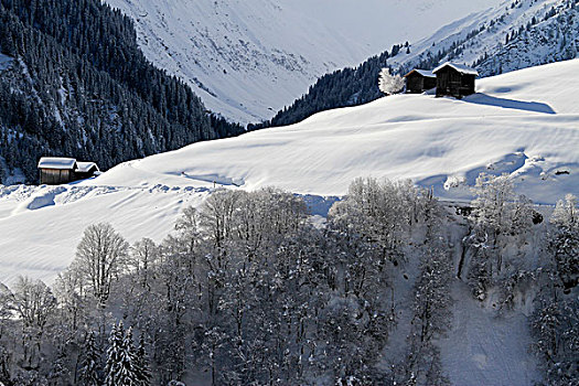
<svg viewBox="0 0 579 386">
<path fill-rule="evenodd" d="M 249 122 L 271 118 L 326 72 L 501 0 L 106 2 L 136 21 L 152 63 L 190 83 L 210 109 Z"/>
</svg>

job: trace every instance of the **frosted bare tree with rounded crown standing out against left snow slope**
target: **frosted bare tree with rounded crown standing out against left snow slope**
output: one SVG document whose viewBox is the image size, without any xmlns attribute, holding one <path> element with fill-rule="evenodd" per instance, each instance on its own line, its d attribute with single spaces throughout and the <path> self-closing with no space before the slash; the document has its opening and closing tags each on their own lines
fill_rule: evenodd
<svg viewBox="0 0 579 386">
<path fill-rule="evenodd" d="M 77 268 L 84 272 L 93 296 L 105 304 L 114 278 L 125 264 L 129 244 L 108 223 L 90 225 L 76 247 Z"/>
</svg>

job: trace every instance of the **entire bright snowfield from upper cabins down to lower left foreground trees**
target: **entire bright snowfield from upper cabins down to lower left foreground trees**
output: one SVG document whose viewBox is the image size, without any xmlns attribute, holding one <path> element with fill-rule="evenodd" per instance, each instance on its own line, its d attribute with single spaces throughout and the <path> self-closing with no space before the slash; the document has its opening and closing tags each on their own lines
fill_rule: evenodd
<svg viewBox="0 0 579 386">
<path fill-rule="evenodd" d="M 464 100 L 386 97 L 126 162 L 76 184 L 3 187 L 0 281 L 52 280 L 95 222 L 111 222 L 130 242 L 159 239 L 214 182 L 342 195 L 357 176 L 410 178 L 468 200 L 480 172 L 507 172 L 519 192 L 553 204 L 579 193 L 578 72 L 579 60 L 528 68 L 480 81 L 480 94 Z"/>
</svg>

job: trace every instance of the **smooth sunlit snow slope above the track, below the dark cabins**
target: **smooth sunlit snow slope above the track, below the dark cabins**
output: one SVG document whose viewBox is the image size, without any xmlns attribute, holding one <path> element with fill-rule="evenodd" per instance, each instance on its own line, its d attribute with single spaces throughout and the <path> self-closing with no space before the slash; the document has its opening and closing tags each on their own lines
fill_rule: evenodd
<svg viewBox="0 0 579 386">
<path fill-rule="evenodd" d="M 409 178 L 441 196 L 480 172 L 511 173 L 521 192 L 554 203 L 579 189 L 579 60 L 478 82 L 457 100 L 398 95 L 303 122 L 195 143 L 114 168 L 90 184 L 183 185 L 195 180 L 344 194 L 360 175 Z M 568 173 L 567 173 L 568 172 Z"/>
</svg>

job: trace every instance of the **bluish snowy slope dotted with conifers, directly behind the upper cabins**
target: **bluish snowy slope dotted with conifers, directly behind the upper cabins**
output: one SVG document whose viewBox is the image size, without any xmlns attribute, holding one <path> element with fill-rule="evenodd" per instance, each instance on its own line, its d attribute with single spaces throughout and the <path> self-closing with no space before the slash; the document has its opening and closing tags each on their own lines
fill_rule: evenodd
<svg viewBox="0 0 579 386">
<path fill-rule="evenodd" d="M 444 61 L 474 65 L 482 76 L 575 58 L 577 0 L 507 0 L 454 21 L 388 61 L 403 72 Z"/>
</svg>

